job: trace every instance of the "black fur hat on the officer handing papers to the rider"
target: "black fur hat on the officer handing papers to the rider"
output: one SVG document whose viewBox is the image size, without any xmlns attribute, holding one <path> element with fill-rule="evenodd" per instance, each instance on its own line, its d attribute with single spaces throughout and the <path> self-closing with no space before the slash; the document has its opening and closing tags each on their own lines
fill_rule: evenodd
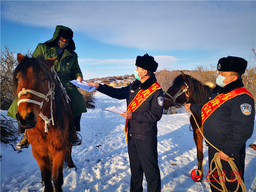
<svg viewBox="0 0 256 192">
<path fill-rule="evenodd" d="M 137 56 L 135 66 L 155 72 L 158 67 L 158 63 L 154 60 L 154 57 L 149 56 L 148 53 L 146 53 L 143 57 Z"/>
</svg>

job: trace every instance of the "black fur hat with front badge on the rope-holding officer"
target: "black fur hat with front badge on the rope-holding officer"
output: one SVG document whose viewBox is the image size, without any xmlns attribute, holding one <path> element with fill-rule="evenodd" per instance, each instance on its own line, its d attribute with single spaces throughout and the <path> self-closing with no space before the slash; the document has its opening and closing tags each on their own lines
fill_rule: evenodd
<svg viewBox="0 0 256 192">
<path fill-rule="evenodd" d="M 228 56 L 221 58 L 218 62 L 218 71 L 233 71 L 239 74 L 244 74 L 247 67 L 247 61 L 243 58 Z"/>
</svg>

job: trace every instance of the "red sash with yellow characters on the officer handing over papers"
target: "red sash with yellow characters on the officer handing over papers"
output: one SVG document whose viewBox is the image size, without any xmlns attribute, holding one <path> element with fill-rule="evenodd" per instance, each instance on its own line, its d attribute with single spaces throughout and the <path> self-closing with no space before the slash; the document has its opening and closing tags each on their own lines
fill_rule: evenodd
<svg viewBox="0 0 256 192">
<path fill-rule="evenodd" d="M 151 85 L 147 90 L 140 90 L 137 95 L 134 97 L 132 102 L 127 107 L 127 111 L 134 112 L 143 101 L 145 101 L 151 94 L 153 94 L 156 90 L 161 88 L 161 86 L 156 82 L 153 85 Z M 126 137 L 127 142 L 127 124 L 129 119 L 126 119 L 125 127 L 124 127 L 124 133 Z"/>
</svg>

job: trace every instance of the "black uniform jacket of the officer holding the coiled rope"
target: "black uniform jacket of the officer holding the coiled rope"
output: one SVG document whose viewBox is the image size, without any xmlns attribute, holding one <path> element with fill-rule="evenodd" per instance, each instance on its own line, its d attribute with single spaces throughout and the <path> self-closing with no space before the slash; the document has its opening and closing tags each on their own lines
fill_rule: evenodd
<svg viewBox="0 0 256 192">
<path fill-rule="evenodd" d="M 221 93 L 228 93 L 243 87 L 242 79 L 237 79 L 225 87 L 216 86 L 210 100 Z M 251 113 L 243 113 L 243 104 L 251 106 Z M 201 115 L 201 105 L 191 105 L 190 110 Z M 251 138 L 254 126 L 254 100 L 250 95 L 239 94 L 219 106 L 204 122 L 204 136 L 223 153 L 232 157 L 239 154 L 245 142 Z M 209 145 L 206 142 L 206 145 Z"/>
</svg>

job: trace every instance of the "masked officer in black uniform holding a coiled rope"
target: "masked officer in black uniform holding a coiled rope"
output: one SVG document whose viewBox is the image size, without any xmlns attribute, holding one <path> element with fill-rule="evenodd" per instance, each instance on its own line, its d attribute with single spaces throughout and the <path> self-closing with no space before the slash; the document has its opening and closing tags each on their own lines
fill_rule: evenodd
<svg viewBox="0 0 256 192">
<path fill-rule="evenodd" d="M 210 101 L 204 106 L 187 104 L 186 109 L 200 114 L 202 112 L 203 132 L 205 138 L 217 147 L 226 178 L 234 179 L 235 173 L 231 171 L 227 162 L 229 157 L 234 158 L 241 180 L 227 182 L 229 190 L 234 191 L 237 182 L 244 181 L 245 143 L 251 138 L 254 126 L 254 100 L 252 94 L 243 88 L 241 75 L 245 73 L 247 61 L 243 58 L 221 58 L 217 69 L 219 76 L 217 85 L 212 90 Z M 209 167 L 215 155 L 216 149 L 209 145 Z M 217 182 L 212 182 L 222 189 Z M 219 191 L 211 186 L 212 191 Z M 241 187 L 238 191 L 242 191 Z"/>
</svg>

